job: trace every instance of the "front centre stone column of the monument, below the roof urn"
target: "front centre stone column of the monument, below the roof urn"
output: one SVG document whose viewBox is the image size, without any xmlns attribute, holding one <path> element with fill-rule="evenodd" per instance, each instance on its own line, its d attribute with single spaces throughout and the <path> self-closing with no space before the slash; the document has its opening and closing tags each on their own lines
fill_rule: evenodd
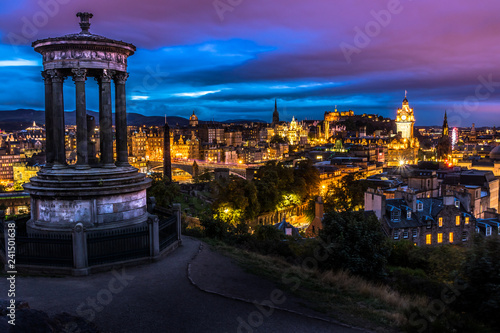
<svg viewBox="0 0 500 333">
<path fill-rule="evenodd" d="M 87 151 L 87 104 L 85 101 L 85 81 L 87 70 L 73 68 L 73 81 L 76 87 L 76 153 L 77 169 L 89 169 L 89 158 Z"/>
</svg>

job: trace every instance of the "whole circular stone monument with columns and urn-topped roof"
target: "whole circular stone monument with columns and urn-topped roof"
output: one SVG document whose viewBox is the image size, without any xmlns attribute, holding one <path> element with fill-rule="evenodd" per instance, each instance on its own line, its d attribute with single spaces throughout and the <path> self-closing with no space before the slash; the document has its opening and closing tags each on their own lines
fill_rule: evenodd
<svg viewBox="0 0 500 333">
<path fill-rule="evenodd" d="M 78 13 L 81 32 L 33 42 L 43 56 L 45 81 L 45 167 L 25 184 L 31 196 L 31 232 L 107 230 L 146 223 L 146 189 L 151 180 L 128 163 L 125 83 L 127 58 L 134 45 L 89 32 L 90 13 Z M 76 87 L 77 162 L 68 165 L 65 152 L 63 83 Z M 85 86 L 93 77 L 99 86 L 99 141 L 96 156 L 87 115 Z M 113 153 L 111 88 L 115 88 L 116 160 Z M 95 123 L 95 122 L 94 122 Z"/>
</svg>

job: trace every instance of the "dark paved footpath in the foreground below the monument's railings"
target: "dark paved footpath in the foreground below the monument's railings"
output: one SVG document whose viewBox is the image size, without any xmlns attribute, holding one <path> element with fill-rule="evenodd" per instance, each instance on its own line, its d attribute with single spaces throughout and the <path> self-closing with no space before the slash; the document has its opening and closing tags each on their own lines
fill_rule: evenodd
<svg viewBox="0 0 500 333">
<path fill-rule="evenodd" d="M 6 287 L 2 278 L 0 291 Z M 16 296 L 32 309 L 80 315 L 110 333 L 363 332 L 320 319 L 301 300 L 188 237 L 153 264 L 87 277 L 18 277 Z M 280 309 L 259 310 L 254 300 Z"/>
</svg>

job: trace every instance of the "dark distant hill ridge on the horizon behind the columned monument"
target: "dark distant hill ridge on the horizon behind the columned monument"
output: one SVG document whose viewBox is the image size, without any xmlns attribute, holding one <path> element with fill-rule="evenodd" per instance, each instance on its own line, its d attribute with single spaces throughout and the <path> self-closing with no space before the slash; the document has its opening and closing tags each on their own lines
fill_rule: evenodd
<svg viewBox="0 0 500 333">
<path fill-rule="evenodd" d="M 87 111 L 87 114 L 94 116 L 97 124 L 99 124 L 99 113 L 95 111 Z M 31 109 L 5 110 L 0 111 L 0 129 L 7 131 L 18 131 L 29 127 L 33 121 L 38 124 L 45 124 L 45 112 Z M 189 125 L 189 120 L 182 117 L 167 117 L 170 126 Z M 64 122 L 66 125 L 76 124 L 76 111 L 64 113 Z M 114 123 L 114 117 L 113 117 Z M 138 113 L 127 113 L 127 123 L 129 126 L 163 126 L 165 117 L 162 116 L 144 116 Z"/>
</svg>

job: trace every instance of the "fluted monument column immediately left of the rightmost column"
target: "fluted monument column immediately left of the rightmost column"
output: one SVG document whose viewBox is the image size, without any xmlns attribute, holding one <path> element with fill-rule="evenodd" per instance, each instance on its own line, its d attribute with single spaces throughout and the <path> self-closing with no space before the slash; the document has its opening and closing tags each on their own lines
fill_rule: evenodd
<svg viewBox="0 0 500 333">
<path fill-rule="evenodd" d="M 113 114 L 111 111 L 111 73 L 103 69 L 99 76 L 99 138 L 101 141 L 101 164 L 104 168 L 115 168 L 113 164 Z"/>
</svg>

